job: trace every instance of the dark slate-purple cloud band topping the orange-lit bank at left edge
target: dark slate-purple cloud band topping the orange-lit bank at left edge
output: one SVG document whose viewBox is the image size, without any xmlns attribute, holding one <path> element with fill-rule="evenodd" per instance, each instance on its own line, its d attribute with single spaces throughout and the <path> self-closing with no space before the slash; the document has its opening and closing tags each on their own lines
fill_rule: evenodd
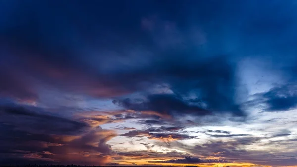
<svg viewBox="0 0 297 167">
<path fill-rule="evenodd" d="M 13 124 L 29 132 L 71 135 L 89 128 L 85 123 L 49 115 L 32 106 L 1 104 L 0 115 L 0 122 Z M 18 119 L 15 120 L 15 117 Z"/>
</svg>

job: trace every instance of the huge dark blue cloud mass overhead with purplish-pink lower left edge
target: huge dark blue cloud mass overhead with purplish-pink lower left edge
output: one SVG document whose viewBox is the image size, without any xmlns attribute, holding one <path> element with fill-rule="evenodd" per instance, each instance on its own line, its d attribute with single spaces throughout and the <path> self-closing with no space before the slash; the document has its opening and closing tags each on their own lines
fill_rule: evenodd
<svg viewBox="0 0 297 167">
<path fill-rule="evenodd" d="M 163 45 L 160 46 L 158 42 L 151 43 L 154 41 L 155 33 L 141 30 L 141 20 L 145 14 L 137 16 L 138 14 L 131 15 L 130 12 L 120 15 L 118 13 L 116 15 L 123 20 L 133 21 L 131 24 L 124 24 L 121 19 L 115 19 L 114 21 L 118 21 L 117 25 L 126 27 L 126 31 L 123 33 L 116 28 L 120 26 L 116 26 L 113 32 L 105 33 L 114 25 L 113 21 L 106 21 L 113 16 L 103 19 L 101 14 L 108 15 L 110 11 L 104 8 L 95 9 L 91 3 L 81 7 L 80 3 L 75 1 L 71 6 L 63 2 L 56 4 L 51 1 L 33 1 L 30 5 L 26 2 L 16 4 L 19 12 L 11 16 L 14 22 L 1 29 L 2 41 L 7 41 L 5 45 L 8 45 L 6 47 L 8 49 L 5 50 L 8 50 L 7 54 L 3 59 L 12 56 L 9 58 L 9 64 L 16 66 L 17 72 L 25 73 L 24 76 L 29 83 L 36 83 L 35 80 L 28 79 L 28 76 L 33 76 L 42 83 L 60 89 L 106 98 L 144 90 L 151 85 L 165 82 L 181 96 L 190 92 L 199 94 L 197 103 L 206 104 L 207 109 L 197 104 L 190 105 L 179 96 L 148 95 L 148 99 L 152 101 L 150 107 L 158 112 L 169 112 L 169 114 L 186 112 L 197 115 L 226 112 L 244 115 L 234 99 L 236 94 L 234 87 L 237 85 L 235 64 L 227 60 L 228 56 L 202 54 L 191 45 L 193 41 L 188 38 L 182 41 L 189 45 L 177 43 L 174 44 L 178 45 L 174 50 L 171 49 L 171 44 L 163 48 Z M 51 5 L 55 10 L 49 7 Z M 63 7 L 65 5 L 66 8 Z M 98 2 L 98 5 L 102 4 Z M 111 4 L 104 3 L 104 5 Z M 80 15 L 74 12 L 76 7 L 81 9 Z M 138 12 L 131 11 L 131 13 Z M 94 15 L 88 17 L 91 13 Z M 77 17 L 77 19 L 67 19 L 68 17 Z M 83 19 L 86 17 L 88 19 Z M 99 23 L 98 19 L 102 22 Z M 168 25 L 166 21 L 161 22 L 161 27 L 156 30 L 157 33 L 166 34 L 167 31 L 171 31 L 168 30 L 171 24 Z M 89 25 L 88 27 L 94 29 L 88 28 L 87 31 L 83 25 Z M 176 29 L 181 35 L 185 34 L 184 28 L 178 24 L 176 27 L 175 23 L 172 24 L 172 29 Z M 135 35 L 129 37 L 128 32 L 133 32 Z M 168 35 L 175 38 L 174 34 Z M 104 41 L 104 45 L 103 41 L 96 40 L 99 36 L 100 39 L 111 40 L 113 38 L 110 37 L 116 36 L 119 40 L 114 39 L 118 41 L 117 44 L 110 43 L 110 46 L 106 46 L 109 42 Z M 135 38 L 136 36 L 139 38 Z M 130 43 L 132 45 L 135 42 L 147 45 L 141 45 L 140 49 L 130 51 Z M 165 38 L 162 43 L 170 42 L 170 38 Z M 93 47 L 100 44 L 104 47 Z M 116 46 L 116 49 L 110 48 L 112 46 Z M 15 48 L 17 50 L 14 52 Z M 110 51 L 111 49 L 119 51 L 114 53 Z M 146 53 L 148 56 L 143 57 Z M 138 60 L 141 60 L 141 63 Z M 16 74 L 18 75 L 20 74 Z M 164 100 L 166 104 L 164 106 L 155 104 L 158 99 Z M 176 105 L 169 108 L 169 111 L 163 111 L 164 107 L 172 106 L 174 103 Z"/>
</svg>

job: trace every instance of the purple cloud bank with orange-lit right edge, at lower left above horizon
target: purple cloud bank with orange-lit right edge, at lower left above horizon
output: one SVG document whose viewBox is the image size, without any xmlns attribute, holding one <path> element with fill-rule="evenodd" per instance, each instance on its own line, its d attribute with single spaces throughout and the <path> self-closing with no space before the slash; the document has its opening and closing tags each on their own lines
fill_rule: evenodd
<svg viewBox="0 0 297 167">
<path fill-rule="evenodd" d="M 15 121 L 15 117 L 18 118 Z M 38 107 L 0 106 L 0 164 L 62 163 L 103 165 L 113 154 L 106 144 L 112 130 L 46 114 Z"/>
</svg>

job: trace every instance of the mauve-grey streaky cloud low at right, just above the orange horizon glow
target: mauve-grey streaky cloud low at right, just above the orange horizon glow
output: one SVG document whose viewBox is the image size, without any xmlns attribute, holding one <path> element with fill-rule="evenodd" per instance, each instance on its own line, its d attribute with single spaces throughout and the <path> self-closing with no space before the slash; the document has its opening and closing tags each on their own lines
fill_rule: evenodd
<svg viewBox="0 0 297 167">
<path fill-rule="evenodd" d="M 273 138 L 273 135 L 271 137 Z M 252 161 L 254 164 L 263 165 L 294 165 L 296 160 L 294 160 L 292 155 L 296 153 L 295 149 L 287 150 L 282 153 L 272 150 L 271 152 L 267 152 L 267 150 L 249 149 L 250 146 L 253 145 L 258 145 L 259 147 L 268 147 L 271 144 L 276 144 L 275 142 L 278 141 L 272 140 L 269 142 L 272 139 L 271 137 L 243 136 L 241 138 L 231 138 L 228 141 L 214 139 L 202 144 L 197 143 L 194 145 L 175 141 L 170 145 L 162 146 L 190 152 L 201 157 L 221 157 L 224 160 L 230 162 Z M 290 142 L 294 142 L 294 140 L 284 140 L 279 142 L 281 142 L 281 145 L 285 145 L 286 143 L 290 144 Z"/>
</svg>

